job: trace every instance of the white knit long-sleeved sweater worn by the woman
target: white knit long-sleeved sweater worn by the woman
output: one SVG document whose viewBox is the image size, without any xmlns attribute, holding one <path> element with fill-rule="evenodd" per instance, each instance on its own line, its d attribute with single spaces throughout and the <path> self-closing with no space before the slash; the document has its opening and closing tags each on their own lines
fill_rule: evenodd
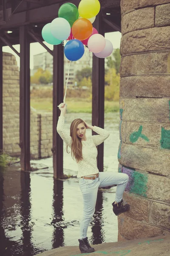
<svg viewBox="0 0 170 256">
<path fill-rule="evenodd" d="M 64 129 L 64 116 L 59 116 L 57 123 L 57 132 L 64 142 L 71 148 L 72 139 L 69 134 Z M 97 168 L 97 148 L 104 140 L 109 137 L 108 131 L 94 126 L 93 131 L 99 135 L 86 136 L 86 141 L 82 140 L 82 157 L 83 160 L 77 163 L 78 174 L 77 177 L 82 177 L 86 175 L 96 174 L 99 172 Z"/>
</svg>

